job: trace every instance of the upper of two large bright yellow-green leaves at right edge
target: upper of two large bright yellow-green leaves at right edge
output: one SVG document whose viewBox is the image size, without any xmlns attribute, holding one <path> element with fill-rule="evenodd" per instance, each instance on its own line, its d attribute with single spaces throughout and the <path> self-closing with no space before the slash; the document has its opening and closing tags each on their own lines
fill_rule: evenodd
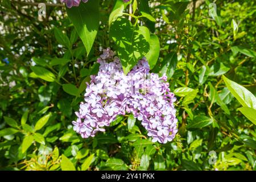
<svg viewBox="0 0 256 182">
<path fill-rule="evenodd" d="M 222 77 L 230 92 L 237 98 L 243 107 L 252 107 L 253 109 L 256 109 L 256 98 L 251 92 L 249 92 L 249 90 L 236 82 L 229 80 L 224 75 Z"/>
</svg>

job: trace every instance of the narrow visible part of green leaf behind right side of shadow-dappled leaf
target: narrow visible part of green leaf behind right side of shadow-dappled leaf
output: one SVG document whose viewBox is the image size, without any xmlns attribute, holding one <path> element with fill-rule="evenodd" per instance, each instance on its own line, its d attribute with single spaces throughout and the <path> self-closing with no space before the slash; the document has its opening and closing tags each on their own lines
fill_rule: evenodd
<svg viewBox="0 0 256 182">
<path fill-rule="evenodd" d="M 160 53 L 160 43 L 158 36 L 155 34 L 150 35 L 150 50 L 146 54 L 146 58 L 148 61 L 148 64 L 150 65 L 150 69 L 153 69 L 155 67 L 156 62 L 158 61 L 158 56 Z"/>
</svg>

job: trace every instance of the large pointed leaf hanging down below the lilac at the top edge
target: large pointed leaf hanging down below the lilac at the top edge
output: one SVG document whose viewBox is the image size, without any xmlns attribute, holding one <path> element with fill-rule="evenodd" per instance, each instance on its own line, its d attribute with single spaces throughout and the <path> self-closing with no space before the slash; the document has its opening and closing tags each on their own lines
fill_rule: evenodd
<svg viewBox="0 0 256 182">
<path fill-rule="evenodd" d="M 100 24 L 99 1 L 80 3 L 79 7 L 67 8 L 68 18 L 76 28 L 77 34 L 84 43 L 87 56 L 92 49 Z"/>
</svg>

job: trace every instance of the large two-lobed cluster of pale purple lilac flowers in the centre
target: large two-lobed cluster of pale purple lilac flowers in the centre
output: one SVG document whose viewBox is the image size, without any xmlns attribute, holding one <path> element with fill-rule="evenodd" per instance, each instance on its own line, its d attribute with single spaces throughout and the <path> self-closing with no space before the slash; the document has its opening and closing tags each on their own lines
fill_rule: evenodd
<svg viewBox="0 0 256 182">
<path fill-rule="evenodd" d="M 73 129 L 83 138 L 94 137 L 97 131 L 105 131 L 117 115 L 131 113 L 142 122 L 152 137 L 152 142 L 166 143 L 177 133 L 177 119 L 174 102 L 176 98 L 168 88 L 167 77 L 149 73 L 150 67 L 145 58 L 127 74 L 115 53 L 104 49 L 98 58 L 100 69 L 85 93 L 81 102 L 77 121 Z"/>
</svg>

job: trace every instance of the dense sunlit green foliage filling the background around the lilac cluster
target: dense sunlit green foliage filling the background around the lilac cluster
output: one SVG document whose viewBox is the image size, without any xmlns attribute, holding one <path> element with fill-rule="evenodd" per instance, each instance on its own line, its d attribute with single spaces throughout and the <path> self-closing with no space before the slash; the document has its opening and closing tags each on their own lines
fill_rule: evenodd
<svg viewBox="0 0 256 182">
<path fill-rule="evenodd" d="M 71 10 L 46 6 L 46 18 L 39 21 L 38 7 L 26 2 L 0 3 L 0 169 L 256 169 L 254 1 L 216 1 L 218 16 L 212 18 L 210 1 L 149 1 L 150 6 L 144 6 L 148 1 L 138 0 L 138 8 L 132 2 L 135 18 L 130 25 L 125 24 L 128 15 L 118 14 L 129 14 L 129 5 L 100 1 L 100 26 L 87 52 L 89 40 L 84 46 L 67 16 Z M 110 16 L 113 8 L 119 9 Z M 167 73 L 177 96 L 179 132 L 170 143 L 152 143 L 141 123 L 127 115 L 118 117 L 105 133 L 82 139 L 71 122 L 85 82 L 97 74 L 102 48 L 117 51 L 129 71 L 142 55 L 134 59 L 117 40 L 136 24 L 159 39 L 158 59 L 157 47 L 155 52 L 144 47 L 140 53 L 150 49 L 152 72 Z M 125 40 L 133 41 L 129 36 Z M 139 39 L 138 46 L 142 42 Z M 3 61 L 6 57 L 9 64 Z M 252 94 L 241 92 L 245 99 L 238 102 L 224 74 Z M 240 102 L 250 103 L 250 108 L 238 110 L 246 106 Z"/>
</svg>

